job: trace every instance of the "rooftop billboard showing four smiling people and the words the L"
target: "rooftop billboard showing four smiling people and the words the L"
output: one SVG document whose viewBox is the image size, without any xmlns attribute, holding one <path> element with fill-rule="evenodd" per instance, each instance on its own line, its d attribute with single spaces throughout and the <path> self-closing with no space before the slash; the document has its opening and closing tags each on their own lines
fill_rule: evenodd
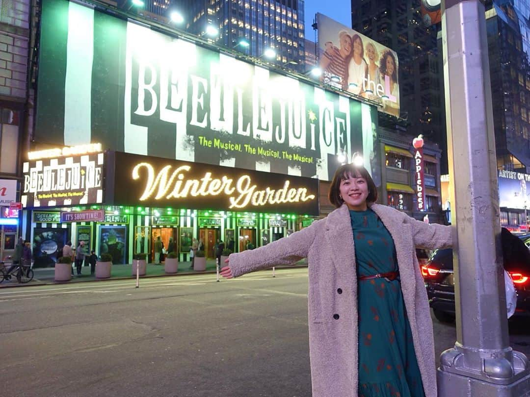
<svg viewBox="0 0 530 397">
<path fill-rule="evenodd" d="M 321 82 L 381 103 L 399 117 L 398 55 L 359 32 L 316 14 Z"/>
</svg>

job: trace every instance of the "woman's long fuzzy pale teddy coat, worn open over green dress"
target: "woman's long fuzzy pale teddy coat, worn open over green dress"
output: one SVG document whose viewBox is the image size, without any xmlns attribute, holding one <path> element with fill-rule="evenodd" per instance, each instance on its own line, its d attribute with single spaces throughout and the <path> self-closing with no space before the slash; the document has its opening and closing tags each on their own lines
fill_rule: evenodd
<svg viewBox="0 0 530 397">
<path fill-rule="evenodd" d="M 450 247 L 451 228 L 417 221 L 384 205 L 371 204 L 370 208 L 381 218 L 394 240 L 401 290 L 423 388 L 426 397 L 436 397 L 432 320 L 414 248 Z M 237 277 L 273 265 L 291 264 L 304 257 L 308 259 L 313 396 L 357 396 L 357 274 L 354 236 L 346 204 L 288 238 L 230 255 L 229 266 L 232 275 Z"/>
</svg>

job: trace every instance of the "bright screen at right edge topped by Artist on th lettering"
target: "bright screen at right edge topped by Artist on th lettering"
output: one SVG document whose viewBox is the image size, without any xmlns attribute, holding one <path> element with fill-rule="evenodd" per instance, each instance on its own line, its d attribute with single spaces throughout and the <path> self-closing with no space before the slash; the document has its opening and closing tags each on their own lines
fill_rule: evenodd
<svg viewBox="0 0 530 397">
<path fill-rule="evenodd" d="M 530 174 L 499 170 L 499 206 L 530 209 Z"/>
</svg>

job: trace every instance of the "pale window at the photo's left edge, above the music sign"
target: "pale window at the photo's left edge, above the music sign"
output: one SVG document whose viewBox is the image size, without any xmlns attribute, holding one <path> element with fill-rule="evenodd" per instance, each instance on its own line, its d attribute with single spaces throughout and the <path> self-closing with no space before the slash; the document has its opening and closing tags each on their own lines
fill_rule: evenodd
<svg viewBox="0 0 530 397">
<path fill-rule="evenodd" d="M 0 173 L 16 174 L 20 113 L 0 109 Z"/>
</svg>

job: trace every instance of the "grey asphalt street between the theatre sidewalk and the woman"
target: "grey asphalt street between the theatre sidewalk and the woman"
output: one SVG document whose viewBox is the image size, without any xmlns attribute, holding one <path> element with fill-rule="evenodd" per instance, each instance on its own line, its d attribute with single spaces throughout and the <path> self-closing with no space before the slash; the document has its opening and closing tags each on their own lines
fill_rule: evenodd
<svg viewBox="0 0 530 397">
<path fill-rule="evenodd" d="M 306 268 L 5 288 L 2 394 L 310 396 L 306 299 Z M 456 331 L 434 323 L 439 355 Z"/>
</svg>

